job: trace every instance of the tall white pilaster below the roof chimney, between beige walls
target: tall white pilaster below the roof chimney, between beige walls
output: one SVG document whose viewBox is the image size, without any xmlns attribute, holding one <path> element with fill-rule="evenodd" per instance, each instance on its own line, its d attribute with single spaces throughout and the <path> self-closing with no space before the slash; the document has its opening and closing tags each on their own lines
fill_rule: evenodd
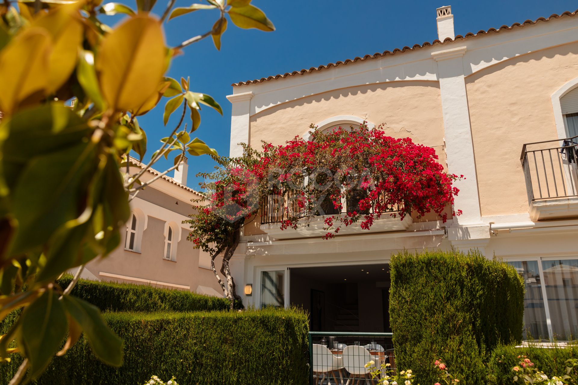
<svg viewBox="0 0 578 385">
<path fill-rule="evenodd" d="M 457 225 L 481 223 L 476 162 L 473 156 L 472 130 L 462 63 L 465 51 L 466 47 L 457 47 L 432 53 L 433 59 L 438 62 L 447 169 L 451 174 L 463 174 L 466 177 L 465 180 L 455 182 L 460 193 L 455 197 L 454 207 L 463 212 L 454 218 Z"/>
</svg>

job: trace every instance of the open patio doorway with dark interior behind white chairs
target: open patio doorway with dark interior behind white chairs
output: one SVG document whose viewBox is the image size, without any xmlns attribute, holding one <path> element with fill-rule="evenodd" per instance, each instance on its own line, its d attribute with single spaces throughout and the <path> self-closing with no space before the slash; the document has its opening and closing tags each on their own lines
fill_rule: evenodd
<svg viewBox="0 0 578 385">
<path fill-rule="evenodd" d="M 310 314 L 312 331 L 391 332 L 388 264 L 292 267 L 291 305 Z"/>
</svg>

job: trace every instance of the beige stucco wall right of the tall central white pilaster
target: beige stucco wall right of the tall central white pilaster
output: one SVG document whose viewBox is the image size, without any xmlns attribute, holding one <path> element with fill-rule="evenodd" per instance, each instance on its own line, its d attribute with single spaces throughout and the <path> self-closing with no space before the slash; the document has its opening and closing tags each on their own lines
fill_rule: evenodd
<svg viewBox="0 0 578 385">
<path fill-rule="evenodd" d="M 551 95 L 578 77 L 578 43 L 521 55 L 466 77 L 482 216 L 525 214 L 524 143 L 557 139 Z"/>
</svg>

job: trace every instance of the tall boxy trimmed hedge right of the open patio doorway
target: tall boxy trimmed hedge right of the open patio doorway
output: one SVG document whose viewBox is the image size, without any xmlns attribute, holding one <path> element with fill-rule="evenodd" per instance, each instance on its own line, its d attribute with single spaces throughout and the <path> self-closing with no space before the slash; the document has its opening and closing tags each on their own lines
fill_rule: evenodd
<svg viewBox="0 0 578 385">
<path fill-rule="evenodd" d="M 478 252 L 392 256 L 390 322 L 396 365 L 435 383 L 441 359 L 468 384 L 486 382 L 484 361 L 499 343 L 519 342 L 524 283 L 513 267 Z"/>
</svg>

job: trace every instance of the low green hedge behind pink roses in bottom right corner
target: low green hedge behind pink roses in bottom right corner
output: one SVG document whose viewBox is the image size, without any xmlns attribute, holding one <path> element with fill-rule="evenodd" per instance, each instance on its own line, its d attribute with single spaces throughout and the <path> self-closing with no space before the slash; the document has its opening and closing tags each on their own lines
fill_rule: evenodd
<svg viewBox="0 0 578 385">
<path fill-rule="evenodd" d="M 536 364 L 536 368 L 548 377 L 564 376 L 566 375 L 564 362 L 568 358 L 578 358 L 578 346 L 553 348 L 498 346 L 488 361 L 488 385 L 513 384 L 512 368 L 520 362 L 518 356 L 527 356 Z M 571 371 L 569 376 L 572 377 L 570 383 L 578 383 L 576 369 Z"/>
</svg>

